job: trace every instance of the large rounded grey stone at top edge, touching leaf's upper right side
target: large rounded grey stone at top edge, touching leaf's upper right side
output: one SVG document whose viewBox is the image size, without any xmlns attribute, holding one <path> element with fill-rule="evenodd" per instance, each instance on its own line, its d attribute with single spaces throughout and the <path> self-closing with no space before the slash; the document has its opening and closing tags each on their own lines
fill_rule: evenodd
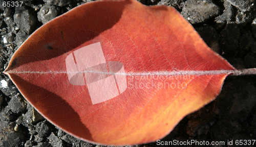
<svg viewBox="0 0 256 147">
<path fill-rule="evenodd" d="M 190 23 L 205 22 L 218 16 L 219 13 L 219 6 L 209 0 L 188 0 L 185 2 L 181 12 Z"/>
</svg>

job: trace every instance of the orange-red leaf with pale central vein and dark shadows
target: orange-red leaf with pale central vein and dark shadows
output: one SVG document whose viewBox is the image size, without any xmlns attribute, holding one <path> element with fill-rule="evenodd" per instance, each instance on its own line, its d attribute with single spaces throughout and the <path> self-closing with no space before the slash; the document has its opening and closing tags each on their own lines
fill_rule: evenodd
<svg viewBox="0 0 256 147">
<path fill-rule="evenodd" d="M 5 73 L 57 127 L 121 145 L 164 137 L 214 100 L 231 70 L 174 8 L 127 0 L 55 18 L 18 48 Z"/>
</svg>

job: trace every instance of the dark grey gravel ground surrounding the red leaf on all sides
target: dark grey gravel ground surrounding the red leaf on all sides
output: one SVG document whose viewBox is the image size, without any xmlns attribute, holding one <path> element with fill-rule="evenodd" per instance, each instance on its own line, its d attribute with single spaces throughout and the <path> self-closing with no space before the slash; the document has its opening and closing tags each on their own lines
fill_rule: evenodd
<svg viewBox="0 0 256 147">
<path fill-rule="evenodd" d="M 4 1 L 0 2 L 0 71 L 3 71 L 33 31 L 89 1 L 24 1 L 21 7 L 10 8 L 3 6 Z M 212 50 L 234 67 L 256 67 L 254 0 L 141 0 L 141 3 L 175 7 Z M 233 146 L 237 146 L 234 145 L 237 139 L 256 139 L 255 79 L 256 76 L 229 76 L 215 101 L 186 116 L 161 141 L 225 141 L 225 145 L 211 146 L 228 146 L 227 140 L 233 140 Z M 99 146 L 53 126 L 28 104 L 6 75 L 0 75 L 0 82 L 0 146 Z M 135 146 L 160 145 L 154 142 Z"/>
</svg>

